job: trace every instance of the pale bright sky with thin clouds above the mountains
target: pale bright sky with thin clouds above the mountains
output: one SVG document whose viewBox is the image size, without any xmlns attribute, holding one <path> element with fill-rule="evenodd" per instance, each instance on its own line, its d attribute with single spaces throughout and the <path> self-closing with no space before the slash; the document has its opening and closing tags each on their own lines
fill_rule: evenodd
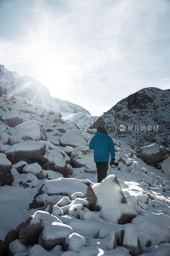
<svg viewBox="0 0 170 256">
<path fill-rule="evenodd" d="M 169 0 L 0 0 L 0 64 L 101 116 L 170 88 Z"/>
</svg>

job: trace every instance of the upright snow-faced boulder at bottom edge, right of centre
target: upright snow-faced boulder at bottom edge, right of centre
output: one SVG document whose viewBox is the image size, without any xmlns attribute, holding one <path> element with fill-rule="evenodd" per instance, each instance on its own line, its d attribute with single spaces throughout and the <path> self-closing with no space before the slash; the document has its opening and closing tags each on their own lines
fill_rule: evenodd
<svg viewBox="0 0 170 256">
<path fill-rule="evenodd" d="M 134 227 L 126 226 L 121 230 L 121 246 L 127 248 L 129 253 L 133 256 L 137 256 L 142 253 L 140 240 Z"/>
</svg>

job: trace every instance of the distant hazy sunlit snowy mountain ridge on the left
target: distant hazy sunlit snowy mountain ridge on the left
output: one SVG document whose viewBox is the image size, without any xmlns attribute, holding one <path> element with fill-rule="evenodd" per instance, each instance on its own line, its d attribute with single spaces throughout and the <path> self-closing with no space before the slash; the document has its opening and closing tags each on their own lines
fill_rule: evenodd
<svg viewBox="0 0 170 256">
<path fill-rule="evenodd" d="M 39 83 L 31 76 L 19 76 L 17 72 L 9 71 L 4 65 L 0 65 L 0 85 L 4 88 L 12 88 L 18 93 L 20 97 L 41 105 L 43 108 L 52 109 L 53 111 L 60 111 L 63 116 L 70 114 L 81 113 L 79 125 L 87 129 L 94 123 L 96 116 L 91 116 L 89 111 L 79 105 L 71 103 L 67 100 L 60 100 L 53 98 L 46 86 Z M 82 116 L 86 116 L 86 124 L 82 120 Z M 70 121 L 74 121 L 74 115 L 69 117 Z M 81 120 L 83 121 L 81 123 Z"/>
</svg>

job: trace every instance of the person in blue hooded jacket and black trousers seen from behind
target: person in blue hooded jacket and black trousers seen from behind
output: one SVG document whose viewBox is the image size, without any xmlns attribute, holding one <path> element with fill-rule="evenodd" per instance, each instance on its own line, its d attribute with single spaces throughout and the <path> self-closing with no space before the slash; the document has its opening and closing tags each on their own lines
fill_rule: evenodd
<svg viewBox="0 0 170 256">
<path fill-rule="evenodd" d="M 112 138 L 107 134 L 106 129 L 101 126 L 97 127 L 97 132 L 92 137 L 90 149 L 94 149 L 94 161 L 97 167 L 97 182 L 100 183 L 106 178 L 109 162 L 109 152 L 111 155 L 110 165 L 115 162 L 115 146 Z"/>
</svg>

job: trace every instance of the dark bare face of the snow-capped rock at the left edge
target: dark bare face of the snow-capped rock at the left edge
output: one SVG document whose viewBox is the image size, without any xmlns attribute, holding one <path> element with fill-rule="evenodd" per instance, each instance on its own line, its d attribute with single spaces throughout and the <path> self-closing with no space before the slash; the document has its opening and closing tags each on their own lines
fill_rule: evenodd
<svg viewBox="0 0 170 256">
<path fill-rule="evenodd" d="M 4 165 L 0 163 L 0 186 L 12 185 L 14 182 L 11 169 L 12 165 Z"/>
</svg>

